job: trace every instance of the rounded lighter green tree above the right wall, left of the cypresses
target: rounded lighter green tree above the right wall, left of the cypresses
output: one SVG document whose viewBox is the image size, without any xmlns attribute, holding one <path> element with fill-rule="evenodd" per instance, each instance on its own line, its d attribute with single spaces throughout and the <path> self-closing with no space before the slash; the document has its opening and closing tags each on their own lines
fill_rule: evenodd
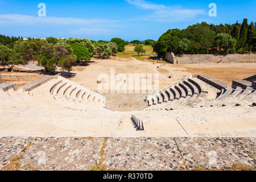
<svg viewBox="0 0 256 182">
<path fill-rule="evenodd" d="M 228 53 L 228 49 L 233 52 L 236 47 L 236 42 L 235 38 L 225 33 L 217 34 L 214 38 L 214 46 L 218 47 L 219 52 L 223 49 L 224 53 Z"/>
</svg>

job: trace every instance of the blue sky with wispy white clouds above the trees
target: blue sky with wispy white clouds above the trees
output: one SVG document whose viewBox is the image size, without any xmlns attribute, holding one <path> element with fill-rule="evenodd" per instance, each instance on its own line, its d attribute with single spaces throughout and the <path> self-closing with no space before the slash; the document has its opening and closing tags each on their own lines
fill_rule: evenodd
<svg viewBox="0 0 256 182">
<path fill-rule="evenodd" d="M 46 4 L 46 17 L 38 4 Z M 209 3 L 217 16 L 210 17 Z M 74 37 L 93 40 L 158 39 L 170 28 L 186 28 L 205 21 L 213 24 L 256 21 L 256 1 L 13 1 L 0 0 L 0 34 L 26 37 Z"/>
</svg>

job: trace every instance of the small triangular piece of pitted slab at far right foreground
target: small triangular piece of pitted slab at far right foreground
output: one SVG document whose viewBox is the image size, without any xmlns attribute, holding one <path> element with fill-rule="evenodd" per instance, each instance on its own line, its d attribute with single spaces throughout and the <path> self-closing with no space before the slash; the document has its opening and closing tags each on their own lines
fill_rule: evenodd
<svg viewBox="0 0 256 182">
<path fill-rule="evenodd" d="M 251 154 L 251 157 L 256 159 L 256 138 L 233 138 L 243 147 L 246 152 Z"/>
</svg>

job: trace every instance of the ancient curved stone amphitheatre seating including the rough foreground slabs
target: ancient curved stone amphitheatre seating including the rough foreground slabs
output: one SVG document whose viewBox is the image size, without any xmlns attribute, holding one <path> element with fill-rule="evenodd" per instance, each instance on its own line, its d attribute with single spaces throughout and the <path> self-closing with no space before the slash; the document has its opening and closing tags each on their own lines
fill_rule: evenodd
<svg viewBox="0 0 256 182">
<path fill-rule="evenodd" d="M 106 96 L 61 76 L 0 88 L 2 169 L 256 167 L 256 75 L 232 85 L 189 75 L 137 111 L 108 109 Z"/>
</svg>

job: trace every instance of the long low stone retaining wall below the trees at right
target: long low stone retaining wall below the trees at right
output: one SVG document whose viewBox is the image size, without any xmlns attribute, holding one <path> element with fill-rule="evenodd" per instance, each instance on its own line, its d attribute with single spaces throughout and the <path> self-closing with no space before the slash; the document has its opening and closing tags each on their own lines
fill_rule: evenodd
<svg viewBox="0 0 256 182">
<path fill-rule="evenodd" d="M 256 63 L 256 54 L 174 55 L 174 53 L 166 52 L 165 59 L 173 64 Z"/>
</svg>

